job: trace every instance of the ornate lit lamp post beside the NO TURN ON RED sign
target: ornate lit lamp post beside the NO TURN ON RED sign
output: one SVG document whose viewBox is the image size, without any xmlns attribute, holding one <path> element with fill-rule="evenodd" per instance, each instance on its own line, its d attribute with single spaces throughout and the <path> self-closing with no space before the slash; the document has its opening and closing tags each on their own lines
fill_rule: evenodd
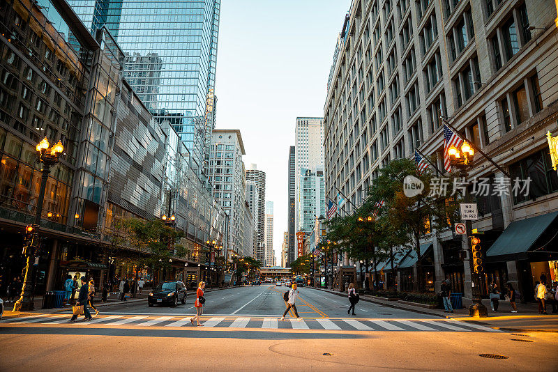
<svg viewBox="0 0 558 372">
<path fill-rule="evenodd" d="M 450 162 L 452 166 L 461 169 L 464 172 L 464 176 L 467 176 L 467 171 L 470 169 L 469 160 L 473 158 L 474 150 L 473 148 L 467 143 L 467 141 L 463 141 L 463 144 L 460 148 L 456 148 L 455 146 L 450 146 L 448 148 L 448 155 L 450 157 Z M 465 188 L 465 201 L 472 201 L 472 197 L 469 194 L 469 189 Z M 469 316 L 488 316 L 488 311 L 486 307 L 483 305 L 481 300 L 481 275 L 482 275 L 482 266 L 479 266 L 481 270 L 475 270 L 473 264 L 473 246 L 472 246 L 472 238 L 473 237 L 473 224 L 471 221 L 465 221 L 465 226 L 467 228 L 467 251 L 469 251 L 469 270 L 471 270 L 471 279 L 472 279 L 472 296 L 473 302 L 471 306 L 469 306 Z"/>
</svg>

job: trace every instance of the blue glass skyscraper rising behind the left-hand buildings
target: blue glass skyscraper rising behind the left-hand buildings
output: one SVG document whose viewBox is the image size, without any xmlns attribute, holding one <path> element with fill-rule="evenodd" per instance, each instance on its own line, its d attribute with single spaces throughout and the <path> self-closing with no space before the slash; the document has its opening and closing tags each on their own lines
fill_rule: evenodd
<svg viewBox="0 0 558 372">
<path fill-rule="evenodd" d="M 130 86 L 202 167 L 215 126 L 220 0 L 68 2 L 92 33 L 109 29 L 126 55 Z"/>
</svg>

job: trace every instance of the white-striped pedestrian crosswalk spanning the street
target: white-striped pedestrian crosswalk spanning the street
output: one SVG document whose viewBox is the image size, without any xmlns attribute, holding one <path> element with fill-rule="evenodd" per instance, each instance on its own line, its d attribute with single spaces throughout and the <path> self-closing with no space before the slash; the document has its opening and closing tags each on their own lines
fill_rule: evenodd
<svg viewBox="0 0 558 372">
<path fill-rule="evenodd" d="M 24 325 L 96 325 L 96 326 L 138 326 L 138 327 L 193 327 L 190 317 L 179 316 L 100 316 L 86 322 L 70 323 L 68 314 L 40 314 L 0 321 L 0 326 Z M 263 330 L 329 330 L 329 331 L 380 331 L 380 332 L 501 332 L 475 323 L 447 319 L 344 319 L 344 318 L 249 318 L 242 316 L 211 316 L 202 318 L 204 327 Z"/>
</svg>

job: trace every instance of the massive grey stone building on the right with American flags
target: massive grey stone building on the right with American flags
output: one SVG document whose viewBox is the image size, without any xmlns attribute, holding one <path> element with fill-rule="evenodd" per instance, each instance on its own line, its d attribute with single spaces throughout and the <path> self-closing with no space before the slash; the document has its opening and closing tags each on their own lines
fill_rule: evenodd
<svg viewBox="0 0 558 372">
<path fill-rule="evenodd" d="M 531 180 L 527 194 L 510 188 L 477 195 L 481 218 L 473 228 L 484 233 L 485 277 L 533 297 L 534 281 L 548 278 L 555 261 L 543 247 L 558 211 L 558 175 L 545 135 L 556 134 L 558 118 L 558 68 L 548 63 L 558 56 L 556 19 L 556 3 L 542 0 L 352 1 L 324 104 L 326 194 L 333 199 L 338 188 L 352 201 L 341 214 L 361 203 L 379 169 L 414 159 L 417 148 L 437 155 L 444 171 L 446 121 L 498 164 L 476 151 L 470 183 L 485 178 L 499 188 Z M 536 241 L 533 226 L 548 240 Z M 510 236 L 531 238 L 518 247 L 506 244 Z M 448 278 L 455 293 L 471 297 L 462 242 L 446 231 L 421 243 L 431 269 L 417 278 L 418 257 L 405 258 L 398 288 L 420 281 L 438 291 Z M 483 281 L 483 295 L 485 288 Z"/>
</svg>

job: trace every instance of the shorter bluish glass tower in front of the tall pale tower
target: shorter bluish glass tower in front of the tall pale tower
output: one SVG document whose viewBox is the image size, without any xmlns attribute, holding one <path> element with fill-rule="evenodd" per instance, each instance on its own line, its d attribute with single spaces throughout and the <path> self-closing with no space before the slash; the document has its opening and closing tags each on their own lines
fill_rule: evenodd
<svg viewBox="0 0 558 372">
<path fill-rule="evenodd" d="M 315 222 L 319 217 L 326 215 L 326 197 L 324 186 L 324 168 L 301 169 L 303 174 L 299 177 L 299 199 L 298 210 L 296 210 L 296 221 L 299 230 L 310 234 L 314 231 Z"/>
</svg>

